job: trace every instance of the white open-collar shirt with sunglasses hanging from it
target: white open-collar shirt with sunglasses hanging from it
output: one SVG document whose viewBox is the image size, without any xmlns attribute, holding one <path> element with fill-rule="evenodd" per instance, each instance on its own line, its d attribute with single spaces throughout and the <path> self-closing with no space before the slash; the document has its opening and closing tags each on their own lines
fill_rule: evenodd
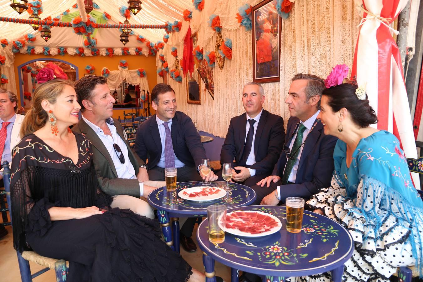
<svg viewBox="0 0 423 282">
<path fill-rule="evenodd" d="M 106 122 L 107 126 L 110 129 L 110 132 L 112 133 L 112 136 L 104 134 L 103 130 L 96 126 L 91 121 L 87 120 L 83 115 L 82 119 L 90 126 L 94 132 L 97 134 L 97 136 L 100 138 L 100 140 L 103 142 L 104 146 L 106 147 L 107 151 L 110 154 L 110 157 L 112 158 L 113 164 L 115 165 L 116 172 L 118 173 L 118 178 L 126 178 L 126 179 L 136 179 L 137 175 L 135 175 L 135 169 L 132 163 L 129 160 L 129 154 L 128 154 L 128 148 L 126 147 L 126 142 L 121 138 L 121 136 L 117 133 L 116 127 L 114 124 L 109 124 Z M 113 119 L 110 118 L 110 120 L 113 123 Z M 115 151 L 115 148 L 113 148 L 113 144 L 118 144 L 118 146 L 121 148 L 122 154 L 125 158 L 125 163 L 122 164 L 119 160 L 119 155 L 121 153 Z M 140 194 L 141 196 L 144 194 L 144 183 L 140 183 Z"/>
</svg>

